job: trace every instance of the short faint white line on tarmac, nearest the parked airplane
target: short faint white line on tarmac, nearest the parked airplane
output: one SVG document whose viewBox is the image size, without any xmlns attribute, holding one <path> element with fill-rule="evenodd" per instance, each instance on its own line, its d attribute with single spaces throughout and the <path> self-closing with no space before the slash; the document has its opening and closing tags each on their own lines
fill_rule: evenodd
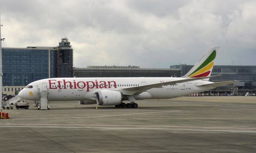
<svg viewBox="0 0 256 153">
<path fill-rule="evenodd" d="M 86 117 L 61 117 L 61 118 L 100 118 L 109 116 L 123 116 L 123 115 L 137 115 L 137 114 L 150 114 L 150 113 L 165 113 L 165 112 L 180 112 L 181 110 L 162 111 L 162 112 L 145 112 L 145 113 L 132 113 L 132 114 L 116 114 L 116 115 L 102 115 L 102 116 L 86 116 Z M 22 120 L 22 119 L 54 119 L 54 118 L 11 118 L 8 120 Z"/>
</svg>

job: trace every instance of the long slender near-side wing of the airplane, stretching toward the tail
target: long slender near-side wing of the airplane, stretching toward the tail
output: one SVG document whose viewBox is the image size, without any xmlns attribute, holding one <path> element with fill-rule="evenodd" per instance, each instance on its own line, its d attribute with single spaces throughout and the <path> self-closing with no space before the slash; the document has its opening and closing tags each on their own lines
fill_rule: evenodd
<svg viewBox="0 0 256 153">
<path fill-rule="evenodd" d="M 219 76 L 219 75 L 214 75 L 214 76 L 209 76 L 209 77 L 199 77 L 199 78 L 184 78 L 181 80 L 160 82 L 160 83 L 154 83 L 154 84 L 146 84 L 146 85 L 142 85 L 142 86 L 133 86 L 133 87 L 120 88 L 120 89 L 132 90 L 132 91 L 148 90 L 151 88 L 162 88 L 162 86 L 174 85 L 177 83 L 189 82 L 189 81 L 194 81 L 194 80 L 202 80 L 204 78 L 213 78 L 213 77 L 217 77 L 217 76 Z"/>
</svg>

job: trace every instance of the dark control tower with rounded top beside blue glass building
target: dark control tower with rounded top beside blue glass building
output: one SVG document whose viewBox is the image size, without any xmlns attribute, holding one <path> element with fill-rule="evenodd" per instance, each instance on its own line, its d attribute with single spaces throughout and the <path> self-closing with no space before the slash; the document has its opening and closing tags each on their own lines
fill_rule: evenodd
<svg viewBox="0 0 256 153">
<path fill-rule="evenodd" d="M 73 49 L 67 37 L 59 42 L 56 52 L 56 77 L 72 77 Z"/>
</svg>

